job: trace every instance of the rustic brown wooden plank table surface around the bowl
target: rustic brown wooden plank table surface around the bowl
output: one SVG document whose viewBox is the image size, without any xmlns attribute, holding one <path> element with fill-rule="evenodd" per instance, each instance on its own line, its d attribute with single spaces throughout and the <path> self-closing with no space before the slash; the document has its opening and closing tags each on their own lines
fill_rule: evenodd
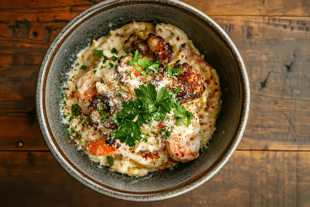
<svg viewBox="0 0 310 207">
<path fill-rule="evenodd" d="M 0 2 L 2 206 L 310 206 L 310 1 L 184 0 L 228 33 L 246 64 L 251 109 L 231 159 L 182 196 L 134 203 L 67 174 L 38 128 L 34 91 L 49 43 L 100 0 Z"/>
</svg>

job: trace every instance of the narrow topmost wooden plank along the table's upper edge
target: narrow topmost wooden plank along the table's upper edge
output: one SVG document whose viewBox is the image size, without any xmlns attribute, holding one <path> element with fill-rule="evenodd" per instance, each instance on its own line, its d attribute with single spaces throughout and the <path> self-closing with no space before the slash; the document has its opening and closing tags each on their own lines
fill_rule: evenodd
<svg viewBox="0 0 310 207">
<path fill-rule="evenodd" d="M 304 0 L 182 0 L 207 15 L 227 16 L 309 16 L 310 2 Z M 40 21 L 70 20 L 74 15 L 101 0 L 2 1 L 1 12 Z M 68 15 L 64 15 L 69 13 Z M 5 15 L 6 16 L 6 15 Z M 18 18 L 16 18 L 18 19 Z"/>
</svg>

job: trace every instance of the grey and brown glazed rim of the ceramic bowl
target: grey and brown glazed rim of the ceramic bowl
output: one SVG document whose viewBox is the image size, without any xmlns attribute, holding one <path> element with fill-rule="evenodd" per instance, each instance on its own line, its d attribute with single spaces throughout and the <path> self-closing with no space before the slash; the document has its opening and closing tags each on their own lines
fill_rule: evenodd
<svg viewBox="0 0 310 207">
<path fill-rule="evenodd" d="M 97 182 L 86 174 L 82 173 L 82 171 L 79 170 L 76 166 L 74 166 L 73 163 L 68 159 L 68 157 L 65 156 L 64 152 L 61 151 L 58 143 L 55 140 L 55 137 L 53 136 L 53 133 L 51 132 L 51 128 L 49 127 L 47 120 L 47 114 L 44 110 L 45 101 L 43 100 L 45 100 L 44 92 L 48 71 L 55 57 L 55 54 L 58 52 L 58 49 L 64 42 L 64 40 L 69 37 L 69 35 L 74 29 L 76 29 L 80 24 L 82 24 L 85 20 L 91 18 L 92 16 L 104 12 L 105 10 L 128 4 L 157 4 L 174 7 L 182 12 L 193 16 L 202 23 L 207 24 L 213 30 L 213 32 L 215 32 L 215 34 L 222 40 L 225 47 L 232 55 L 234 64 L 239 70 L 238 72 L 240 73 L 240 76 L 238 74 L 239 84 L 241 88 L 240 116 L 237 127 L 235 128 L 234 135 L 232 137 L 232 140 L 228 143 L 228 146 L 224 149 L 221 156 L 215 161 L 215 163 L 213 163 L 208 169 L 205 169 L 202 173 L 198 174 L 194 178 L 191 178 L 184 183 L 161 191 L 122 191 L 119 189 L 105 186 L 104 184 Z M 209 16 L 199 11 L 198 9 L 177 0 L 108 0 L 95 4 L 92 7 L 86 9 L 85 11 L 82 11 L 80 14 L 70 20 L 53 39 L 50 46 L 47 48 L 47 51 L 42 59 L 42 63 L 38 71 L 35 102 L 39 128 L 46 145 L 51 151 L 51 154 L 60 164 L 60 166 L 64 168 L 67 173 L 69 173 L 73 178 L 75 178 L 85 186 L 91 188 L 92 190 L 106 196 L 111 196 L 113 198 L 129 201 L 155 201 L 179 196 L 193 190 L 194 188 L 199 187 L 204 182 L 212 178 L 224 166 L 224 164 L 226 164 L 228 159 L 232 156 L 232 153 L 236 150 L 243 135 L 243 132 L 246 128 L 246 122 L 250 109 L 250 84 L 244 62 L 232 40 L 215 21 L 213 21 Z"/>
</svg>

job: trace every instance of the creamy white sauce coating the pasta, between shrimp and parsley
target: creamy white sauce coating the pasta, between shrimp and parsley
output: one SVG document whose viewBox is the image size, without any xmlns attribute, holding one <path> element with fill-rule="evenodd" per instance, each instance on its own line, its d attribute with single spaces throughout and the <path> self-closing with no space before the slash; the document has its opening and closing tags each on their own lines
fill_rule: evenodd
<svg viewBox="0 0 310 207">
<path fill-rule="evenodd" d="M 106 60 L 103 63 L 103 56 L 93 55 L 95 50 L 103 50 L 105 56 L 111 57 L 115 55 L 111 53 L 111 49 L 115 48 L 119 51 L 116 56 L 125 56 L 124 43 L 134 32 L 142 39 L 146 39 L 149 33 L 155 33 L 157 36 L 163 37 L 174 48 L 170 65 L 180 60 L 180 64 L 186 62 L 201 74 L 206 90 L 200 98 L 188 101 L 183 105 L 188 111 L 193 113 L 190 126 L 187 128 L 182 123 L 180 127 L 176 127 L 173 110 L 170 114 L 167 114 L 169 120 L 165 121 L 164 125 L 167 130 L 171 130 L 172 136 L 178 136 L 179 132 L 182 131 L 183 134 L 193 136 L 192 139 L 199 139 L 201 147 L 206 146 L 215 131 L 215 121 L 221 104 L 218 75 L 216 74 L 216 70 L 211 69 L 206 63 L 197 63 L 195 59 L 191 58 L 193 54 L 195 54 L 195 57 L 200 58 L 200 53 L 181 29 L 163 23 L 157 24 L 154 27 L 151 23 L 132 22 L 119 29 L 111 30 L 106 37 L 99 38 L 97 41 L 93 40 L 89 47 L 86 47 L 77 54 L 77 60 L 74 63 L 73 69 L 68 73 L 69 78 L 66 86 L 68 90 L 65 91 L 67 96 L 66 104 L 61 104 L 61 112 L 65 116 L 63 122 L 64 124 L 68 124 L 69 131 L 73 131 L 70 138 L 77 143 L 79 149 L 82 149 L 88 154 L 87 143 L 89 141 L 100 140 L 103 135 L 108 135 L 113 131 L 113 129 L 105 128 L 103 125 L 100 127 L 89 125 L 89 122 L 86 121 L 87 115 L 83 115 L 83 113 L 75 117 L 71 115 L 73 104 L 79 103 L 81 108 L 87 108 L 89 105 L 87 94 L 85 99 L 78 101 L 78 93 L 81 91 L 76 89 L 76 84 L 81 76 L 84 75 L 83 77 L 86 77 L 89 83 L 86 82 L 87 84 L 82 85 L 82 87 L 78 83 L 78 88 L 84 91 L 93 87 L 100 95 L 108 97 L 108 104 L 111 107 L 112 113 L 116 113 L 122 109 L 122 101 L 135 100 L 134 88 L 138 88 L 139 85 L 153 83 L 158 92 L 161 87 L 166 87 L 171 83 L 165 77 L 157 80 L 158 77 L 156 74 L 151 73 L 148 74 L 149 76 L 147 78 L 144 76 L 135 77 L 135 71 L 131 72 L 131 77 L 133 78 L 129 79 L 128 75 L 125 74 L 129 68 L 118 66 L 117 61 Z M 184 50 L 180 50 L 181 47 Z M 186 51 L 191 51 L 191 53 Z M 109 63 L 113 64 L 112 68 Z M 87 69 L 82 70 L 82 65 L 86 65 Z M 119 73 L 117 73 L 115 65 L 118 66 L 117 70 Z M 87 76 L 87 74 L 89 75 Z M 121 96 L 118 97 L 117 94 Z M 133 148 L 126 147 L 113 155 L 109 155 L 114 158 L 113 165 L 108 164 L 107 156 L 89 155 L 89 157 L 100 165 L 110 166 L 110 169 L 113 171 L 131 176 L 143 176 L 148 172 L 158 169 L 171 169 L 177 164 L 177 161 L 171 159 L 170 154 L 166 150 L 165 141 L 159 141 L 157 143 L 157 136 L 151 133 L 152 131 L 160 133 L 157 128 L 158 124 L 160 124 L 159 121 L 153 121 L 151 126 L 147 124 L 142 125 L 142 131 L 150 136 L 142 134 L 141 137 L 148 139 L 148 142 L 139 141 Z"/>
</svg>

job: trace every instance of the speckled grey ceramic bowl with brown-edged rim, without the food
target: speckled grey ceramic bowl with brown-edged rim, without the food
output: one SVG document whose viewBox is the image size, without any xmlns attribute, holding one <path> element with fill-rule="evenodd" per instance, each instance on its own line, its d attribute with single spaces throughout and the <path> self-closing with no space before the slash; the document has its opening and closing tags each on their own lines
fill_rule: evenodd
<svg viewBox="0 0 310 207">
<path fill-rule="evenodd" d="M 100 169 L 72 142 L 66 142 L 59 99 L 65 73 L 75 54 L 93 39 L 135 21 L 170 23 L 184 30 L 219 74 L 222 108 L 208 149 L 196 160 L 174 170 L 132 178 Z M 209 180 L 237 148 L 246 127 L 250 88 L 246 68 L 231 39 L 210 17 L 175 0 L 104 1 L 83 11 L 55 37 L 43 58 L 36 87 L 38 122 L 44 140 L 59 164 L 91 189 L 114 198 L 132 201 L 163 200 L 186 193 Z M 58 131 L 58 133 L 57 133 Z"/>
</svg>

